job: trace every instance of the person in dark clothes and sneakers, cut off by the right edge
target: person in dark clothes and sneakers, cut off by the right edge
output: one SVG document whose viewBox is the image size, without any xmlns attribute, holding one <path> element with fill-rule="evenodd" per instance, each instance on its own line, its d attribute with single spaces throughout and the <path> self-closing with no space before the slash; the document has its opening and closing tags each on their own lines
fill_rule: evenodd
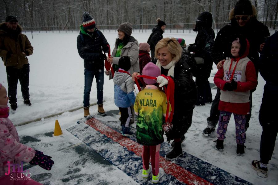
<svg viewBox="0 0 278 185">
<path fill-rule="evenodd" d="M 259 60 L 259 72 L 266 81 L 259 112 L 259 121 L 263 127 L 260 144 L 260 161 L 253 160 L 252 167 L 260 177 L 267 177 L 267 164 L 270 161 L 278 132 L 276 114 L 278 112 L 278 32 L 272 35 L 263 48 Z M 274 105 L 274 106 L 273 106 Z"/>
</svg>

